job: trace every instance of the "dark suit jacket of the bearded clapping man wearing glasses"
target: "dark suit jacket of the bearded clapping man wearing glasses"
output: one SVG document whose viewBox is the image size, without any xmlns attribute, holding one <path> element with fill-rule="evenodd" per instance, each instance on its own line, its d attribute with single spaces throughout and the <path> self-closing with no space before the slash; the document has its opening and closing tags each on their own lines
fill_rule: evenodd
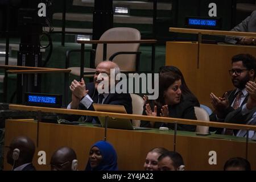
<svg viewBox="0 0 256 182">
<path fill-rule="evenodd" d="M 227 116 L 229 113 L 231 113 L 231 112 L 234 111 L 234 108 L 231 106 L 231 104 L 233 103 L 233 101 L 234 101 L 235 98 L 236 98 L 236 94 L 235 94 L 235 93 L 236 93 L 236 90 L 237 90 L 237 89 L 228 91 L 229 107 L 228 107 L 228 109 L 226 109 L 226 110 L 224 111 L 224 113 L 225 113 L 225 114 L 224 114 L 224 115 L 225 115 L 225 118 L 226 118 L 226 116 Z M 224 97 L 224 95 L 225 95 L 225 93 L 223 94 L 222 97 Z M 245 100 L 243 100 L 243 102 L 242 102 L 242 104 L 241 104 L 241 107 L 242 107 L 244 104 L 246 104 L 246 102 L 247 102 L 247 100 L 248 100 L 248 97 L 249 97 L 249 94 L 247 94 L 247 96 L 245 97 Z M 238 109 L 239 109 L 239 108 L 238 108 Z M 215 114 L 214 112 L 210 115 L 210 121 L 217 121 L 216 114 Z M 224 121 L 222 121 L 222 122 L 224 122 Z M 209 128 L 209 131 L 216 131 L 216 134 L 221 134 L 222 130 L 223 130 L 223 129 L 221 129 L 221 128 L 216 128 L 216 127 L 210 127 L 210 128 Z"/>
</svg>

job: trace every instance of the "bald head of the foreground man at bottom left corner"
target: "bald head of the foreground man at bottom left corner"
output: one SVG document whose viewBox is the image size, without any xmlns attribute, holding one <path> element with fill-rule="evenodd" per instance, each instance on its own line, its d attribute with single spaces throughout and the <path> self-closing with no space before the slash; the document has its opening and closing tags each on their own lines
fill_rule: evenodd
<svg viewBox="0 0 256 182">
<path fill-rule="evenodd" d="M 19 149 L 19 158 L 16 163 L 22 165 L 32 163 L 35 154 L 35 143 L 28 137 L 16 137 L 11 141 L 10 150 L 7 154 L 7 162 L 13 165 L 13 150 Z"/>
</svg>

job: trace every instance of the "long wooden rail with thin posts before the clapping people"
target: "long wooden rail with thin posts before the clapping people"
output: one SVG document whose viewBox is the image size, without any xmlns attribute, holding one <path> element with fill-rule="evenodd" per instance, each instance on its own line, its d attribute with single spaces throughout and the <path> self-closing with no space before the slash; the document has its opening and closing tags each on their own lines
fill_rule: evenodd
<svg viewBox="0 0 256 182">
<path fill-rule="evenodd" d="M 221 128 L 229 128 L 229 129 L 247 130 L 246 145 L 245 145 L 246 159 L 247 159 L 247 153 L 248 153 L 249 130 L 256 131 L 256 126 L 251 126 L 251 125 L 238 125 L 238 124 L 232 124 L 232 123 L 207 122 L 207 121 L 197 121 L 197 120 L 192 120 L 192 119 L 179 119 L 179 118 L 168 118 L 168 117 L 151 117 L 151 116 L 147 116 L 147 115 L 136 115 L 136 114 L 120 114 L 120 113 L 108 113 L 108 112 L 100 112 L 100 111 L 87 111 L 87 110 L 74 110 L 74 109 L 56 109 L 56 108 L 49 108 L 49 107 L 35 107 L 35 106 L 24 106 L 24 105 L 9 105 L 9 109 L 38 111 L 39 118 L 40 118 L 41 112 L 105 117 L 105 123 L 106 123 L 105 124 L 105 135 L 104 135 L 105 141 L 107 139 L 107 130 L 108 130 L 108 119 L 107 118 L 108 117 L 175 123 L 174 151 L 176 150 L 176 135 L 177 135 L 177 124 L 178 123 L 179 124 L 187 124 L 187 125 L 213 126 L 213 127 L 221 127 Z M 38 121 L 38 125 L 39 125 L 39 122 L 40 121 Z M 39 128 L 38 128 L 38 132 L 37 132 L 37 144 L 38 144 L 38 136 L 39 136 Z"/>
</svg>

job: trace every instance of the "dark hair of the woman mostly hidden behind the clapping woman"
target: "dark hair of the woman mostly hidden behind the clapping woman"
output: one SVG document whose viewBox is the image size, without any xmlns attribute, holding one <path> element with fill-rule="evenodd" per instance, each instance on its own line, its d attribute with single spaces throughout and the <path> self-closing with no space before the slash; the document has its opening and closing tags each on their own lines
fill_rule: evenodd
<svg viewBox="0 0 256 182">
<path fill-rule="evenodd" d="M 163 66 L 159 68 L 159 75 L 162 75 L 163 73 L 175 73 L 180 76 L 181 79 L 181 92 L 182 96 L 190 96 L 195 101 L 195 106 L 200 106 L 199 101 L 197 100 L 196 96 L 191 92 L 191 90 L 188 88 L 185 79 L 183 77 L 183 74 L 181 73 L 180 69 L 174 66 Z"/>
</svg>

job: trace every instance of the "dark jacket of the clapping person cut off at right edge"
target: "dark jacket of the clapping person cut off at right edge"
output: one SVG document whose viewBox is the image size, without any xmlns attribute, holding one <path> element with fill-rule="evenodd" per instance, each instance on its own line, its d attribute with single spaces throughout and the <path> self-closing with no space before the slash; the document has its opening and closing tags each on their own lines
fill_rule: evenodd
<svg viewBox="0 0 256 182">
<path fill-rule="evenodd" d="M 226 123 L 236 123 L 241 125 L 246 125 L 246 123 L 253 117 L 253 114 L 255 113 L 256 108 L 252 109 L 249 113 L 242 115 L 242 107 L 230 112 L 226 118 Z M 234 130 L 234 134 L 236 135 L 238 130 Z"/>
</svg>

